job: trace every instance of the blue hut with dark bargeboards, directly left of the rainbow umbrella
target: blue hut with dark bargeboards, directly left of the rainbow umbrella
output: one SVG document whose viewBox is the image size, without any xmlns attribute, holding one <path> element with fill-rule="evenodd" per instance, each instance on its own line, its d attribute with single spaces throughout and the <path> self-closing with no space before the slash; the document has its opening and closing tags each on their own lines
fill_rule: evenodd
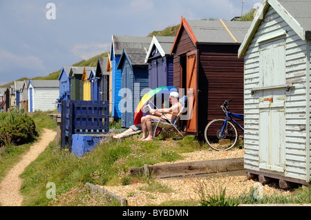
<svg viewBox="0 0 311 220">
<path fill-rule="evenodd" d="M 144 48 L 123 49 L 117 70 L 121 70 L 121 126 L 129 128 L 134 124 L 135 108 L 144 94 L 142 90 L 149 88 L 148 63 L 144 62 Z M 145 90 L 145 92 L 148 92 Z"/>
</svg>

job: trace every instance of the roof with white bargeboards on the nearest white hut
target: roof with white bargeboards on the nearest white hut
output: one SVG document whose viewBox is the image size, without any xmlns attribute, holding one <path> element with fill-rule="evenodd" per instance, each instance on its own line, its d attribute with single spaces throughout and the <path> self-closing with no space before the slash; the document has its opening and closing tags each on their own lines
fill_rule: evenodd
<svg viewBox="0 0 311 220">
<path fill-rule="evenodd" d="M 238 57 L 244 56 L 250 41 L 261 24 L 263 14 L 271 6 L 296 32 L 302 40 L 311 39 L 311 1 L 310 0 L 263 0 L 258 16 L 252 21 L 245 38 L 238 49 Z"/>
</svg>

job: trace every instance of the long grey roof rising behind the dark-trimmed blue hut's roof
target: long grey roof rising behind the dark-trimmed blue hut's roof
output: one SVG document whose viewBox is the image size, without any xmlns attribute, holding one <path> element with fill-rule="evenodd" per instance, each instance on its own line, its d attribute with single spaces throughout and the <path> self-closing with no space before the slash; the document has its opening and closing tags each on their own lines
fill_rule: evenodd
<svg viewBox="0 0 311 220">
<path fill-rule="evenodd" d="M 130 37 L 130 36 L 112 36 L 111 56 L 121 55 L 123 48 L 145 48 L 146 52 L 151 43 L 152 37 Z"/>
</svg>

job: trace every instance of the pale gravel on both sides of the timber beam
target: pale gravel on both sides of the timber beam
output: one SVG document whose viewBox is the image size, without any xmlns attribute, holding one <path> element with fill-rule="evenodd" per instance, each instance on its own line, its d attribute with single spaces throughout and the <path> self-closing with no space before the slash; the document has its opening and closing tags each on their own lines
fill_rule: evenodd
<svg viewBox="0 0 311 220">
<path fill-rule="evenodd" d="M 182 154 L 185 159 L 175 161 L 173 163 L 181 163 L 188 161 L 200 161 L 207 159 L 225 159 L 233 157 L 243 157 L 244 150 L 228 150 L 228 151 L 215 151 L 215 150 L 199 150 L 197 152 Z M 165 162 L 167 163 L 167 162 Z M 158 164 L 165 164 L 158 163 Z M 163 201 L 169 200 L 187 200 L 194 201 L 199 199 L 198 190 L 205 186 L 205 190 L 209 192 L 220 188 L 226 187 L 226 194 L 230 196 L 238 196 L 243 192 L 249 192 L 251 188 L 256 186 L 258 182 L 247 180 L 245 175 L 227 176 L 226 174 L 216 174 L 215 177 L 193 177 L 193 178 L 169 178 L 169 179 L 156 179 L 162 186 L 171 189 L 171 192 L 148 192 L 146 189 L 148 184 L 145 182 L 132 183 L 128 186 L 100 186 L 105 190 L 113 192 L 120 197 L 126 198 L 129 206 L 146 206 L 146 205 L 160 205 Z M 264 194 L 286 194 L 289 195 L 290 191 L 274 188 L 273 186 L 263 186 Z"/>
</svg>

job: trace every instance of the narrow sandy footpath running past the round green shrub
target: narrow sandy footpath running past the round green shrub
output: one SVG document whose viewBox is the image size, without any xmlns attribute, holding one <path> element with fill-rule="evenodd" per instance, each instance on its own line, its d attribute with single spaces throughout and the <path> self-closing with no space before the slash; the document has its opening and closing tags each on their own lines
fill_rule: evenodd
<svg viewBox="0 0 311 220">
<path fill-rule="evenodd" d="M 46 149 L 48 143 L 53 141 L 55 136 L 55 131 L 44 129 L 41 140 L 34 143 L 29 152 L 23 155 L 21 161 L 8 172 L 8 175 L 0 183 L 0 203 L 2 206 L 21 206 L 23 197 L 19 193 L 19 189 L 23 180 L 19 178 L 19 175 Z"/>
</svg>

